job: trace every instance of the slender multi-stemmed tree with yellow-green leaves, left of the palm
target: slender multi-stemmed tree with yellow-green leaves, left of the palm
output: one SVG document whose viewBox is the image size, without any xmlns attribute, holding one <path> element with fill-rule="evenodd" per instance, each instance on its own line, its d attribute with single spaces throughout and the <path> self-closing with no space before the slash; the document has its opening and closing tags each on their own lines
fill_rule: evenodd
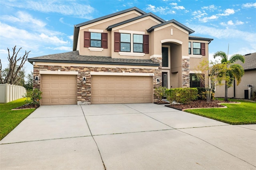
<svg viewBox="0 0 256 170">
<path fill-rule="evenodd" d="M 211 103 L 212 90 L 215 85 L 222 85 L 222 80 L 225 79 L 223 76 L 226 73 L 226 63 L 217 63 L 203 60 L 197 65 L 196 77 L 200 79 L 200 82 L 206 89 L 206 101 Z M 208 75 L 208 76 L 207 76 Z M 208 79 L 208 81 L 206 81 Z"/>
</svg>

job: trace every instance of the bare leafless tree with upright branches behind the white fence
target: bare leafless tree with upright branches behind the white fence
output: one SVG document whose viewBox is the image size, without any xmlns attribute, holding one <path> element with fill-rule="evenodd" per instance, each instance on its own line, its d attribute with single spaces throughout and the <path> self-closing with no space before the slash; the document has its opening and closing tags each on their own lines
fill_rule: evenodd
<svg viewBox="0 0 256 170">
<path fill-rule="evenodd" d="M 22 47 L 20 47 L 20 49 L 22 49 Z M 28 53 L 30 51 L 25 51 L 25 54 L 22 57 L 18 57 L 18 53 L 20 51 L 20 49 L 16 51 L 16 45 L 12 48 L 12 55 L 10 55 L 10 50 L 9 48 L 7 48 L 8 50 L 8 61 L 9 61 L 9 65 L 7 69 L 4 69 L 4 74 L 2 74 L 2 63 L 1 63 L 1 59 L 0 59 L 0 83 L 4 84 L 4 83 L 9 83 L 12 85 L 21 85 L 22 84 L 22 76 L 23 76 L 23 80 L 24 80 L 24 70 L 22 70 L 23 65 L 25 64 L 25 62 L 28 59 Z M 18 64 L 18 62 L 20 62 Z M 23 71 L 23 73 L 22 73 Z M 24 81 L 23 81 L 24 84 Z"/>
</svg>

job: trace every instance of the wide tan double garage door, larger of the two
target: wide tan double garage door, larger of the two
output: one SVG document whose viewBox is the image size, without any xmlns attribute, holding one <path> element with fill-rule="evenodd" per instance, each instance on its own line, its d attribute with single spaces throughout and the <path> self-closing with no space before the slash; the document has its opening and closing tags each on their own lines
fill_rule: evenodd
<svg viewBox="0 0 256 170">
<path fill-rule="evenodd" d="M 92 104 L 152 103 L 153 78 L 92 75 Z"/>
</svg>

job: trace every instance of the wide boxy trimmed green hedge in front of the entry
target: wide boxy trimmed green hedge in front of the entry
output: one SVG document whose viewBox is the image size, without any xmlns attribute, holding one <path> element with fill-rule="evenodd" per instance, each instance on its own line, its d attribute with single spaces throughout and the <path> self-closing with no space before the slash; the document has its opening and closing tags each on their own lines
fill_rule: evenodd
<svg viewBox="0 0 256 170">
<path fill-rule="evenodd" d="M 175 88 L 166 90 L 166 99 L 172 103 L 190 103 L 197 99 L 198 90 L 196 88 Z"/>
</svg>

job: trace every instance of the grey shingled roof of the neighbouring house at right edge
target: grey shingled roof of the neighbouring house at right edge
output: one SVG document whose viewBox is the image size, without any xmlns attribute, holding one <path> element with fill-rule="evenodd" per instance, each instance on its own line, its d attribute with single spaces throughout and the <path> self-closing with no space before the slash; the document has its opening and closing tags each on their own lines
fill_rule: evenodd
<svg viewBox="0 0 256 170">
<path fill-rule="evenodd" d="M 256 70 L 256 53 L 246 54 L 244 59 L 244 63 L 241 61 L 236 61 L 236 63 L 242 65 L 244 71 Z"/>
</svg>

